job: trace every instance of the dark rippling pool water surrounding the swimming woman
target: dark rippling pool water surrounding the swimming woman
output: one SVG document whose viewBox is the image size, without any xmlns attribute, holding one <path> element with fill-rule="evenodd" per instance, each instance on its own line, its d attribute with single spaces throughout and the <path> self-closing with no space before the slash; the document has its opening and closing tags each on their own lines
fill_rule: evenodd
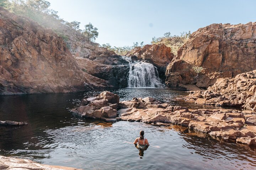
<svg viewBox="0 0 256 170">
<path fill-rule="evenodd" d="M 186 95 L 165 89 L 108 89 L 121 100 L 156 97 L 172 104 Z M 86 92 L 91 96 L 101 90 Z M 69 112 L 83 92 L 0 96 L 0 120 L 27 121 L 21 127 L 0 127 L 0 155 L 28 158 L 44 164 L 80 169 L 256 169 L 255 149 L 223 143 L 181 126 L 144 123 L 104 123 Z M 194 107 L 194 105 L 190 105 Z M 201 106 L 198 106 L 201 107 Z M 145 131 L 149 147 L 144 155 L 133 142 Z"/>
</svg>

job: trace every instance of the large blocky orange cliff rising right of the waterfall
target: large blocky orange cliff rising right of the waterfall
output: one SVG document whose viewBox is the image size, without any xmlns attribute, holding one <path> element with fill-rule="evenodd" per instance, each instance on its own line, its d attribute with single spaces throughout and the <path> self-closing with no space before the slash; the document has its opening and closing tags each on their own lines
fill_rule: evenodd
<svg viewBox="0 0 256 170">
<path fill-rule="evenodd" d="M 192 33 L 166 69 L 166 86 L 207 88 L 217 78 L 235 77 L 256 69 L 256 22 L 211 24 Z M 203 67 L 196 77 L 192 66 Z"/>
</svg>

